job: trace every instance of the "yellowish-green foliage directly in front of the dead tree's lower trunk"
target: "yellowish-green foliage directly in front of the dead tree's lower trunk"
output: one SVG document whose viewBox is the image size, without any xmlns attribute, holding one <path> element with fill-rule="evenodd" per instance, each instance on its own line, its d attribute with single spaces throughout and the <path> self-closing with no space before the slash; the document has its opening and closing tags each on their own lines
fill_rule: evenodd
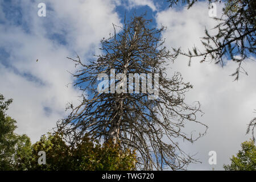
<svg viewBox="0 0 256 182">
<path fill-rule="evenodd" d="M 75 164 L 79 170 L 131 170 L 135 168 L 135 152 L 122 151 L 119 144 L 107 143 L 95 144 L 84 137 L 77 145 L 73 155 L 81 163 Z"/>
</svg>

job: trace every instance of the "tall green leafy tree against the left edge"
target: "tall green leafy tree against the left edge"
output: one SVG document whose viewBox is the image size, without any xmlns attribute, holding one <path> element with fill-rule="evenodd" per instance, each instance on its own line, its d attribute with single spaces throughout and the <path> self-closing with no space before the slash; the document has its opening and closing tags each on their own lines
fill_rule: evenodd
<svg viewBox="0 0 256 182">
<path fill-rule="evenodd" d="M 5 101 L 0 94 L 0 170 L 26 169 L 23 162 L 31 154 L 31 142 L 27 135 L 18 135 L 16 121 L 6 115 L 6 110 L 12 100 Z"/>
</svg>

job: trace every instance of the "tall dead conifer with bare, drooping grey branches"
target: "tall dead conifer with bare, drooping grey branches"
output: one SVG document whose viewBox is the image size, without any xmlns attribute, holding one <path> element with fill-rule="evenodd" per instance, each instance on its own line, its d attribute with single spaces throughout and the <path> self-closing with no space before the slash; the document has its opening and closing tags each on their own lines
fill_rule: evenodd
<svg viewBox="0 0 256 182">
<path fill-rule="evenodd" d="M 65 135 L 72 136 L 71 143 L 79 141 L 85 134 L 104 142 L 111 139 L 116 143 L 119 140 L 123 149 L 137 151 L 137 168 L 140 169 L 185 169 L 187 164 L 196 160 L 181 150 L 177 138 L 195 142 L 205 134 L 196 137 L 186 134 L 183 131 L 186 122 L 207 126 L 196 121 L 200 104 L 184 102 L 185 92 L 192 85 L 183 82 L 180 73 L 167 77 L 167 61 L 175 59 L 176 55 L 163 46 L 161 32 L 164 27 L 150 28 L 149 23 L 150 20 L 142 15 L 125 20 L 123 27 L 113 24 L 114 35 L 101 41 L 103 55 L 98 55 L 89 64 L 82 63 L 79 56 L 69 58 L 80 67 L 73 74 L 76 78 L 74 85 L 79 86 L 84 94 L 80 105 L 71 103 L 68 106 L 71 114 L 58 123 L 58 128 Z M 116 28 L 120 28 L 118 34 Z M 113 76 L 112 69 L 115 75 L 123 73 L 129 85 L 124 81 L 125 77 L 110 79 L 105 85 L 110 84 L 110 88 L 117 85 L 116 89 L 121 89 L 121 92 L 112 92 L 104 85 L 106 92 L 99 93 L 97 77 L 103 73 Z M 159 82 L 156 78 L 151 85 L 147 82 L 148 86 L 155 85 L 154 89 L 159 90 L 158 98 L 151 99 L 143 92 L 142 82 L 130 85 L 134 81 L 129 75 L 137 73 L 159 75 Z M 140 93 L 134 92 L 136 86 Z"/>
</svg>

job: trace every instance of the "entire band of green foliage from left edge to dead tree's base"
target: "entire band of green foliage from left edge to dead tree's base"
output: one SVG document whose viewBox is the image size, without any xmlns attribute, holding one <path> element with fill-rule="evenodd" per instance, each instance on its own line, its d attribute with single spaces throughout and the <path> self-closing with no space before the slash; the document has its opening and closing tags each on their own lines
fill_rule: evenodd
<svg viewBox="0 0 256 182">
<path fill-rule="evenodd" d="M 48 134 L 31 146 L 27 135 L 18 135 L 16 121 L 6 115 L 12 100 L 0 94 L 0 171 L 6 170 L 131 170 L 135 152 L 122 151 L 119 144 L 92 142 L 82 138 L 73 146 L 63 135 Z M 39 165 L 39 151 L 46 152 L 46 164 Z"/>
</svg>

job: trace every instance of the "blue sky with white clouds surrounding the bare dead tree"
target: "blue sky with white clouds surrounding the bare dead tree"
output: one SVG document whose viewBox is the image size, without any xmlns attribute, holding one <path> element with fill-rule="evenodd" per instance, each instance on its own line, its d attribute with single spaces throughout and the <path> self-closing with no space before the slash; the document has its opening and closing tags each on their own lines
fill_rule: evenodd
<svg viewBox="0 0 256 182">
<path fill-rule="evenodd" d="M 38 16 L 39 3 L 46 4 L 46 16 Z M 217 5 L 221 15 L 222 5 Z M 113 25 L 122 25 L 124 15 L 147 12 L 152 27 L 166 26 L 166 47 L 194 45 L 203 49 L 200 38 L 204 27 L 216 22 L 208 15 L 208 3 L 168 7 L 165 1 L 153 0 L 0 0 L 0 93 L 13 98 L 7 114 L 16 119 L 18 134 L 27 134 L 32 142 L 56 126 L 68 114 L 68 102 L 79 103 L 80 91 L 69 72 L 75 65 L 68 57 L 76 54 L 83 61 L 100 53 L 100 40 L 113 33 Z M 255 59 L 255 57 L 253 57 Z M 38 61 L 36 61 L 38 60 Z M 256 64 L 246 60 L 243 68 L 249 76 L 239 81 L 230 76 L 236 64 L 226 60 L 224 68 L 179 56 L 167 69 L 168 75 L 180 72 L 193 89 L 187 92 L 187 103 L 200 101 L 204 115 L 198 120 L 209 126 L 207 135 L 193 144 L 180 143 L 183 150 L 196 154 L 201 161 L 189 170 L 223 170 L 229 158 L 240 150 L 247 124 L 255 117 Z M 188 131 L 192 126 L 187 126 Z M 208 163 L 209 151 L 216 151 L 217 164 Z"/>
</svg>

